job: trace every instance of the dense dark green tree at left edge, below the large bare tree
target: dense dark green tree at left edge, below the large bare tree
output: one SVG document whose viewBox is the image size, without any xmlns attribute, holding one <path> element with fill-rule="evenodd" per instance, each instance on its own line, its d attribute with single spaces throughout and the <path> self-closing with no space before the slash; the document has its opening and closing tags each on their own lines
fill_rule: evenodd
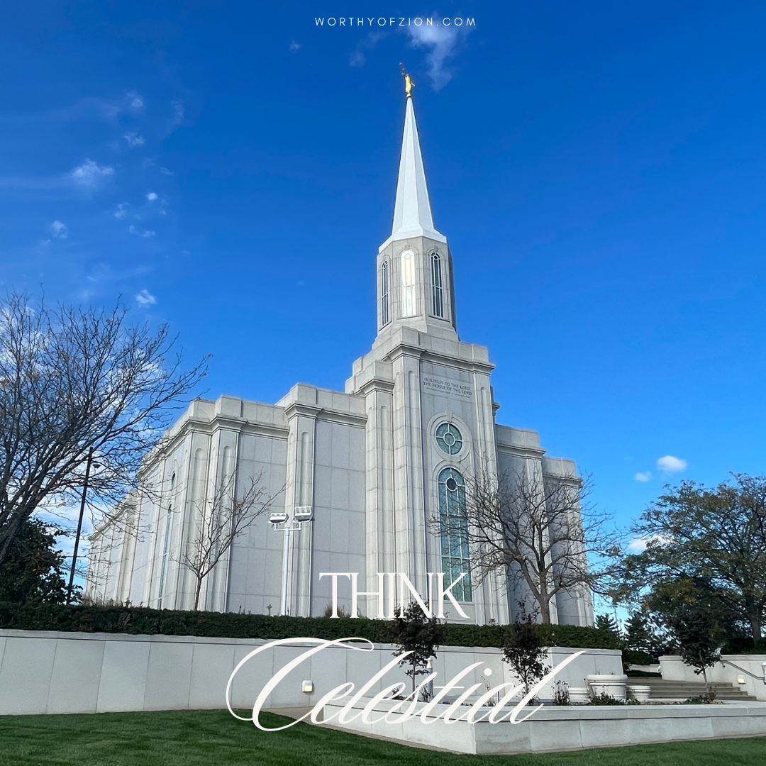
<svg viewBox="0 0 766 766">
<path fill-rule="evenodd" d="M 21 525 L 0 565 L 0 601 L 64 603 L 64 554 L 56 550 L 56 535 L 61 532 L 39 519 L 28 519 Z"/>
</svg>

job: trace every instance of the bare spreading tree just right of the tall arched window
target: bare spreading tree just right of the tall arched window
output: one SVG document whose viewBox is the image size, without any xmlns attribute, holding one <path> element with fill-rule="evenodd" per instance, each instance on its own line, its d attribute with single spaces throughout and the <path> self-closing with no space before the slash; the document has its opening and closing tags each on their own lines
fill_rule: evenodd
<svg viewBox="0 0 766 766">
<path fill-rule="evenodd" d="M 589 483 L 574 476 L 479 473 L 466 481 L 465 519 L 439 524 L 460 524 L 453 538 L 467 542 L 478 581 L 506 573 L 514 584 L 525 583 L 540 619 L 550 623 L 556 594 L 596 589 L 614 568 L 617 538 L 605 527 L 608 517 L 588 506 L 589 492 Z"/>
</svg>

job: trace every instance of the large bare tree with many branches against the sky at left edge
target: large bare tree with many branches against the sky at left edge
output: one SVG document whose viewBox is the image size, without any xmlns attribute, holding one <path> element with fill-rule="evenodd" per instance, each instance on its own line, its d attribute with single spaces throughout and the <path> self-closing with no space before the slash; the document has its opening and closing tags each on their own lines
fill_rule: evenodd
<svg viewBox="0 0 766 766">
<path fill-rule="evenodd" d="M 168 326 L 131 326 L 126 314 L 17 293 L 0 305 L 0 565 L 35 510 L 78 499 L 91 450 L 94 500 L 111 506 L 137 486 L 143 457 L 205 375 L 204 364 L 182 369 Z"/>
</svg>

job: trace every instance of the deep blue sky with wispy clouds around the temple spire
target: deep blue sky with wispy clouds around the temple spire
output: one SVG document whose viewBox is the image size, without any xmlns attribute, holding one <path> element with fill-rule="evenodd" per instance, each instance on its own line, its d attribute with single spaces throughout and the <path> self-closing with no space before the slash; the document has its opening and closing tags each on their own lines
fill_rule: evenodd
<svg viewBox="0 0 766 766">
<path fill-rule="evenodd" d="M 4 4 L 2 285 L 123 296 L 212 354 L 211 398 L 342 390 L 403 61 L 498 420 L 623 522 L 665 481 L 764 473 L 762 4 L 261 5 Z M 475 26 L 377 22 L 416 16 Z"/>
</svg>

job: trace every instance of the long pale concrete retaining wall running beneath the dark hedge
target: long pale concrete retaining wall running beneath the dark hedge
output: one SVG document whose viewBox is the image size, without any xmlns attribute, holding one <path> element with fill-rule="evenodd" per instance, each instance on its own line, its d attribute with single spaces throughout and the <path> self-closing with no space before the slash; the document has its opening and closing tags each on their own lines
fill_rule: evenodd
<svg viewBox="0 0 766 766">
<path fill-rule="evenodd" d="M 234 666 L 264 643 L 269 642 L 0 630 L 0 715 L 224 708 L 226 684 Z M 251 708 L 273 673 L 308 648 L 295 642 L 254 657 L 234 679 L 232 705 Z M 314 705 L 346 681 L 358 689 L 388 664 L 392 650 L 386 644 L 378 644 L 370 652 L 342 647 L 322 650 L 291 671 L 264 707 Z M 555 647 L 549 651 L 548 664 L 557 666 L 576 651 Z M 434 662 L 439 673 L 435 686 L 477 662 L 484 664 L 474 671 L 473 679 L 466 677 L 466 685 L 484 683 L 481 673 L 486 667 L 493 671 L 493 686 L 514 680 L 497 649 L 444 647 Z M 570 686 L 584 686 L 588 673 L 621 670 L 619 651 L 591 649 L 558 677 Z M 313 694 L 301 691 L 304 679 L 313 681 Z M 371 693 L 399 680 L 408 679 L 396 668 Z M 542 698 L 551 693 L 550 688 L 544 689 Z"/>
</svg>

